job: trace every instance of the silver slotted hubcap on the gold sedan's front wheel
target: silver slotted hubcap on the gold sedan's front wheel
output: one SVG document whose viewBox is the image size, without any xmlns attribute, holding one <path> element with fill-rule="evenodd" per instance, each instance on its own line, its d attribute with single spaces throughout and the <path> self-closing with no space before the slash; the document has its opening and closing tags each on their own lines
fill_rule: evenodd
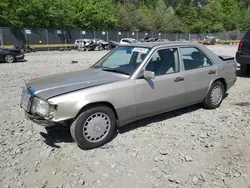
<svg viewBox="0 0 250 188">
<path fill-rule="evenodd" d="M 107 136 L 110 126 L 111 121 L 106 114 L 95 113 L 85 121 L 83 135 L 89 142 L 99 142 Z"/>
</svg>

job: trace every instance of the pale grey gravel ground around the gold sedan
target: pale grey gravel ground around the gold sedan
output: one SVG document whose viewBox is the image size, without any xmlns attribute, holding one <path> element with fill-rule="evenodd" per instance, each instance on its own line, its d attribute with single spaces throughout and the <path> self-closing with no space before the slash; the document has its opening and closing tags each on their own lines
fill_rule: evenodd
<svg viewBox="0 0 250 188">
<path fill-rule="evenodd" d="M 237 49 L 209 48 L 233 56 Z M 216 110 L 192 106 L 138 121 L 91 151 L 68 131 L 32 132 L 18 106 L 23 79 L 84 69 L 104 53 L 37 52 L 0 64 L 1 188 L 250 187 L 250 78 L 238 76 Z"/>
</svg>

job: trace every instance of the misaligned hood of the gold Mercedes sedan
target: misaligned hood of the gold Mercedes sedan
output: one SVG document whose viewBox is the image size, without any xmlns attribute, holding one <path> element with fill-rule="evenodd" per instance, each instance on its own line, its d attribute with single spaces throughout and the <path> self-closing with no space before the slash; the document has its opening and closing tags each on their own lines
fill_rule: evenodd
<svg viewBox="0 0 250 188">
<path fill-rule="evenodd" d="M 105 72 L 100 69 L 85 69 L 35 78 L 26 82 L 27 88 L 41 99 L 47 100 L 71 91 L 125 80 L 123 74 Z"/>
</svg>

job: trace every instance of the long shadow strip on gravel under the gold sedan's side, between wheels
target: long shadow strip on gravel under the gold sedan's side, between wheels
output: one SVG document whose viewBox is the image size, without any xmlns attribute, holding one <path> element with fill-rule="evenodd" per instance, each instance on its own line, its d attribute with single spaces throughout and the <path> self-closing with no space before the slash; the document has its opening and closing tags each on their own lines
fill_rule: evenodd
<svg viewBox="0 0 250 188">
<path fill-rule="evenodd" d="M 181 115 L 186 114 L 186 113 L 197 111 L 199 109 L 201 109 L 201 105 L 196 104 L 196 105 L 189 106 L 189 107 L 182 108 L 182 109 L 178 109 L 175 111 L 159 114 L 156 116 L 152 116 L 149 118 L 138 120 L 138 121 L 135 121 L 135 122 L 130 123 L 128 125 L 122 126 L 121 128 L 118 129 L 118 131 L 120 134 L 124 134 L 124 133 L 127 133 L 129 131 L 133 131 L 135 129 L 138 129 L 138 128 L 141 128 L 144 126 L 153 126 L 152 123 L 157 123 L 157 122 L 161 122 L 161 121 L 164 121 L 167 119 L 178 117 L 178 116 L 181 116 Z"/>
</svg>

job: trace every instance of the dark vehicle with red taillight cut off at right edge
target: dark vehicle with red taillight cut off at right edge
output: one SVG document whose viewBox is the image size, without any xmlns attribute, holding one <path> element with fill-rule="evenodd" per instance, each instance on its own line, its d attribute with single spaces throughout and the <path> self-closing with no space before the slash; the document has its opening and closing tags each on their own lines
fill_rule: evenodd
<svg viewBox="0 0 250 188">
<path fill-rule="evenodd" d="M 250 29 L 239 43 L 236 61 L 240 64 L 242 74 L 250 74 Z"/>
</svg>

